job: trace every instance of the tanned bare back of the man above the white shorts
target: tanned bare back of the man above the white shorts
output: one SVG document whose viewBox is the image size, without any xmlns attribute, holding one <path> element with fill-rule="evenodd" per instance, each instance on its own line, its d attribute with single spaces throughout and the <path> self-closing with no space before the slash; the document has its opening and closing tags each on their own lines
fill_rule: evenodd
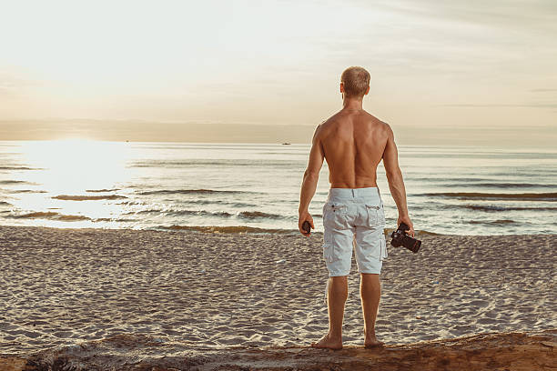
<svg viewBox="0 0 557 371">
<path fill-rule="evenodd" d="M 320 125 L 319 142 L 332 188 L 377 186 L 390 128 L 364 110 L 342 110 Z"/>
</svg>

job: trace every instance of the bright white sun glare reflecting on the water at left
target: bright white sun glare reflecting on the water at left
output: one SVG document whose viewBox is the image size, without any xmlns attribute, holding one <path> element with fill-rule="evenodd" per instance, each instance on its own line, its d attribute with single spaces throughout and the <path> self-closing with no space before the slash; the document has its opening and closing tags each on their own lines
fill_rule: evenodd
<svg viewBox="0 0 557 371">
<path fill-rule="evenodd" d="M 20 190 L 12 204 L 33 213 L 45 213 L 50 226 L 90 226 L 102 220 L 116 226 L 121 208 L 114 207 L 119 185 L 128 180 L 126 143 L 66 139 L 25 142 L 20 148 L 28 188 Z M 112 203 L 110 202 L 112 201 Z M 45 225 L 45 220 L 41 221 Z M 67 225 L 66 225 L 67 226 Z"/>
</svg>

